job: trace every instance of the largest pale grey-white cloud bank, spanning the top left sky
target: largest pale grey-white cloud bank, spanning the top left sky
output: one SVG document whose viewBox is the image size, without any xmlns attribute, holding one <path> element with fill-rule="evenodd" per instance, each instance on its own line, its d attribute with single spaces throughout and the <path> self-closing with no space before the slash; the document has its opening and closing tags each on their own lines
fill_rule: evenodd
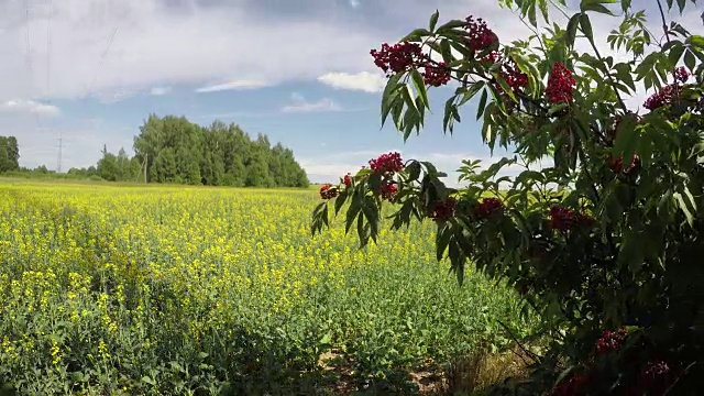
<svg viewBox="0 0 704 396">
<path fill-rule="evenodd" d="M 6 29 L 0 47 L 7 55 L 0 63 L 0 101 L 73 99 L 88 89 L 148 92 L 163 81 L 216 82 L 201 91 L 260 88 L 263 82 L 315 80 L 331 69 L 372 70 L 367 54 L 378 43 L 378 32 L 354 25 L 342 10 L 322 7 L 337 14 L 288 18 L 285 7 L 265 10 L 252 0 L 208 6 L 196 0 L 91 0 L 90 7 L 54 1 L 47 56 L 48 2 L 33 6 L 26 23 L 24 3 L 6 1 L 0 4 Z"/>
</svg>

